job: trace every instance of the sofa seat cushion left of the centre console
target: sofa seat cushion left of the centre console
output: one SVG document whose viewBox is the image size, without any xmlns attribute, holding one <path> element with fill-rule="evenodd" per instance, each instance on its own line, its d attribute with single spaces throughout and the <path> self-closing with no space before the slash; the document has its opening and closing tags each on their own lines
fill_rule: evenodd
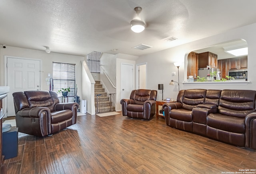
<svg viewBox="0 0 256 174">
<path fill-rule="evenodd" d="M 186 109 L 172 109 L 170 117 L 180 121 L 192 121 L 192 111 Z"/>
</svg>

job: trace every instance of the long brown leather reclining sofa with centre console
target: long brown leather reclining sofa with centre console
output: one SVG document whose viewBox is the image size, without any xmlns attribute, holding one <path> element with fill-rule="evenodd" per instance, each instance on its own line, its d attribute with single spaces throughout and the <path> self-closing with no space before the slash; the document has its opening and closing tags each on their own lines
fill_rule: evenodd
<svg viewBox="0 0 256 174">
<path fill-rule="evenodd" d="M 256 149 L 256 91 L 181 90 L 163 105 L 166 125 Z"/>
</svg>

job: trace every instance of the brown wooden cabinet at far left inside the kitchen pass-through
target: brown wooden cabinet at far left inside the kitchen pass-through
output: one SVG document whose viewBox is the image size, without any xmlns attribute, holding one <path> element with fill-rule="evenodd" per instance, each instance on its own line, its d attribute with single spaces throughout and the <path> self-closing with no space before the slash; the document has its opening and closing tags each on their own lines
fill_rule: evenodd
<svg viewBox="0 0 256 174">
<path fill-rule="evenodd" d="M 198 76 L 198 53 L 190 52 L 188 54 L 187 76 L 193 76 L 194 79 Z"/>
</svg>

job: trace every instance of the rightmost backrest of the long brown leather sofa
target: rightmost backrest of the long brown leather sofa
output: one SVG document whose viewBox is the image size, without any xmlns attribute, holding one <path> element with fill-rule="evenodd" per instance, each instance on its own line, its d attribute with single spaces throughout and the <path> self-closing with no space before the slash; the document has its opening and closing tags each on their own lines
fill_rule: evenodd
<svg viewBox="0 0 256 174">
<path fill-rule="evenodd" d="M 244 118 L 255 111 L 256 91 L 222 90 L 218 112 L 222 115 Z"/>
</svg>

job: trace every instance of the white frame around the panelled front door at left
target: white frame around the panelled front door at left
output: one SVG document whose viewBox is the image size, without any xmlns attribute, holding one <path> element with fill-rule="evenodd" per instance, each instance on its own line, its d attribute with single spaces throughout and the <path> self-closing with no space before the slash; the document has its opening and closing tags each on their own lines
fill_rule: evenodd
<svg viewBox="0 0 256 174">
<path fill-rule="evenodd" d="M 40 90 L 42 90 L 42 59 L 32 59 L 32 58 L 26 58 L 26 57 L 17 57 L 17 56 L 4 56 L 4 86 L 7 86 L 7 58 L 14 58 L 14 59 L 26 59 L 26 60 L 33 60 L 33 61 L 39 61 L 40 62 Z M 12 94 L 8 94 L 8 95 L 12 95 Z M 4 98 L 4 110 L 7 111 L 8 107 L 7 107 L 7 100 L 8 97 Z M 7 117 L 7 113 L 6 115 L 4 115 L 4 117 Z"/>
</svg>

